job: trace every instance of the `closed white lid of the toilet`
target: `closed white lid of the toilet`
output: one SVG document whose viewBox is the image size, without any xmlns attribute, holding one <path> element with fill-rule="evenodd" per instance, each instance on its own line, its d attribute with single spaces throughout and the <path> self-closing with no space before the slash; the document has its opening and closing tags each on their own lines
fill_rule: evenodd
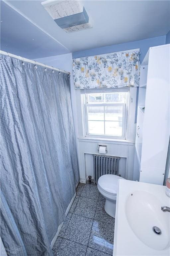
<svg viewBox="0 0 170 256">
<path fill-rule="evenodd" d="M 114 174 L 106 174 L 98 179 L 98 186 L 110 194 L 117 194 L 118 180 L 124 179 Z"/>
</svg>

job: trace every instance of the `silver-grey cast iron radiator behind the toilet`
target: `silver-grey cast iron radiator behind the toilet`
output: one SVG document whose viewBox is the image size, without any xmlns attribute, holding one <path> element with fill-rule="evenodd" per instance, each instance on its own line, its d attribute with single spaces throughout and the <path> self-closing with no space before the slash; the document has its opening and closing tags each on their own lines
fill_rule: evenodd
<svg viewBox="0 0 170 256">
<path fill-rule="evenodd" d="M 93 155 L 94 184 L 97 184 L 100 176 L 104 174 L 119 175 L 120 159 L 116 156 Z"/>
</svg>

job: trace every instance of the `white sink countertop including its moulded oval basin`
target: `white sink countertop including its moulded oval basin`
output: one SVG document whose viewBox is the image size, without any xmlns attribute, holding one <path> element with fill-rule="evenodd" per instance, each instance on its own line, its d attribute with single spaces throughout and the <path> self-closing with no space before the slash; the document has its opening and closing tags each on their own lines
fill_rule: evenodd
<svg viewBox="0 0 170 256">
<path fill-rule="evenodd" d="M 140 196 L 139 201 L 138 195 Z M 147 198 L 147 195 L 150 199 Z M 133 197 L 133 204 L 130 204 L 130 208 L 127 208 L 132 198 L 131 196 L 135 196 Z M 136 208 L 133 208 L 132 205 L 135 205 L 135 202 Z M 155 205 L 157 210 L 154 212 Z M 170 255 L 170 241 L 167 235 L 170 231 L 170 213 L 161 211 L 161 206 L 164 205 L 170 206 L 170 198 L 165 194 L 165 186 L 120 179 L 118 182 L 116 202 L 113 255 Z M 141 209 L 139 209 L 140 206 Z M 138 214 L 136 214 L 137 216 L 135 212 L 138 212 Z M 133 218 L 131 218 L 131 216 Z M 130 218 L 132 219 L 131 223 L 129 223 Z M 162 225 L 165 229 L 162 230 L 161 235 L 155 234 L 151 229 L 154 223 L 159 223 L 159 225 L 163 223 Z M 132 227 L 130 225 L 132 225 Z M 139 226 L 141 230 L 138 229 Z M 134 231 L 136 231 L 137 234 L 135 234 Z M 146 236 L 148 236 L 148 239 L 146 239 Z M 142 239 L 139 237 L 142 237 Z M 166 239 L 164 239 L 164 237 L 166 237 Z M 149 241 L 149 239 L 151 240 Z M 166 240 L 166 246 L 163 245 L 161 240 L 163 242 Z"/>
</svg>

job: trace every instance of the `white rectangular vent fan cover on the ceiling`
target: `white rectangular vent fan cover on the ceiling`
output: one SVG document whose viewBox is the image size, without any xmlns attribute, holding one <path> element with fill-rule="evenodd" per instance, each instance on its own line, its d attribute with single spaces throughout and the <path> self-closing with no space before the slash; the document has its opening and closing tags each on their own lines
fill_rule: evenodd
<svg viewBox="0 0 170 256">
<path fill-rule="evenodd" d="M 79 1 L 45 1 L 45 10 L 67 33 L 92 28 L 89 16 Z"/>
</svg>

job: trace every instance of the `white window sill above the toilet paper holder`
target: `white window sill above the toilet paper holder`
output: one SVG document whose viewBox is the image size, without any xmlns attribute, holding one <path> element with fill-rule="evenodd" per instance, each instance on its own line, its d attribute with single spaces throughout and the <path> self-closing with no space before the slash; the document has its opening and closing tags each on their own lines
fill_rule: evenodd
<svg viewBox="0 0 170 256">
<path fill-rule="evenodd" d="M 106 141 L 106 142 L 112 142 L 112 143 L 118 143 L 118 144 L 129 144 L 134 145 L 134 141 L 125 140 L 125 139 L 111 139 L 111 138 L 101 138 L 101 137 L 78 137 L 79 141 L 86 141 L 86 142 L 96 142 L 96 141 Z"/>
</svg>

